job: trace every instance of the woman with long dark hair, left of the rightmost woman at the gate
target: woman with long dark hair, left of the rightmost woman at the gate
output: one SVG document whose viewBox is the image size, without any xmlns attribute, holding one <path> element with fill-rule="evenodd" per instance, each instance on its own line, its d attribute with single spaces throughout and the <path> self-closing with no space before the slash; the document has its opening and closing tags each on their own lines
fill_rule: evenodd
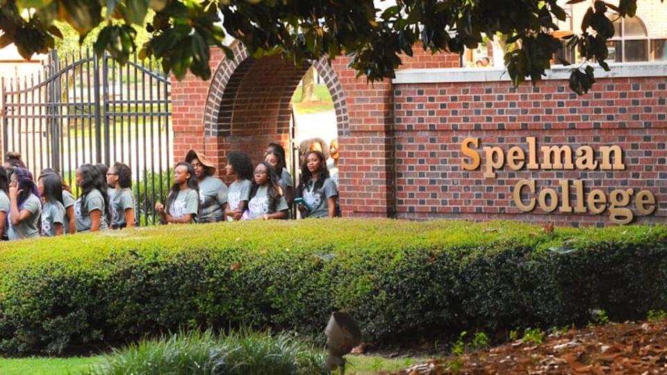
<svg viewBox="0 0 667 375">
<path fill-rule="evenodd" d="M 76 185 L 83 190 L 74 204 L 77 232 L 106 231 L 110 219 L 106 183 L 97 168 L 84 164 L 76 169 Z"/>
</svg>

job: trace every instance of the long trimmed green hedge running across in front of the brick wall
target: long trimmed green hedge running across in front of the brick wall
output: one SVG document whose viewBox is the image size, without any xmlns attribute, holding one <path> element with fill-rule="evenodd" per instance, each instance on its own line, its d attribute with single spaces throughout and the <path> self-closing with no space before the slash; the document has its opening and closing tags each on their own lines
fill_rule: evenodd
<svg viewBox="0 0 667 375">
<path fill-rule="evenodd" d="M 367 341 L 585 324 L 667 308 L 667 226 L 333 219 L 160 226 L 0 244 L 0 352 L 63 353 L 179 328 Z"/>
</svg>

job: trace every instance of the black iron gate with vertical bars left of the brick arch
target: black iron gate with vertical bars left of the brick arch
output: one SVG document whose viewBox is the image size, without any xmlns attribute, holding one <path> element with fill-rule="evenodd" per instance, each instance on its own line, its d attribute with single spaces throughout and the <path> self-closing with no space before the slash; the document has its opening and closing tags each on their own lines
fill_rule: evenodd
<svg viewBox="0 0 667 375">
<path fill-rule="evenodd" d="M 125 163 L 140 225 L 155 222 L 173 160 L 170 81 L 155 61 L 53 51 L 38 74 L 3 79 L 0 90 L 3 155 L 20 152 L 34 176 L 57 169 L 74 192 L 79 165 Z"/>
</svg>

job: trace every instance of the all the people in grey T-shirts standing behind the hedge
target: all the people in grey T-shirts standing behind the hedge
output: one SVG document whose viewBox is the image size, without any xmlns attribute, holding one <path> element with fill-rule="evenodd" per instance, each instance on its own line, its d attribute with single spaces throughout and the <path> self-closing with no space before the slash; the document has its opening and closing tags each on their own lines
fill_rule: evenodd
<svg viewBox="0 0 667 375">
<path fill-rule="evenodd" d="M 320 147 L 321 148 L 321 147 Z M 301 182 L 295 188 L 286 167 L 285 150 L 270 143 L 263 161 L 253 165 L 246 153 L 227 156 L 225 185 L 214 176 L 206 156 L 190 150 L 174 167 L 174 184 L 155 209 L 163 224 L 210 223 L 243 219 L 288 219 L 296 204 L 301 217 L 336 217 L 338 184 L 329 174 L 327 158 L 318 147 L 304 154 Z M 131 169 L 84 164 L 76 169 L 80 196 L 54 169 L 43 169 L 35 181 L 20 155 L 8 153 L 0 167 L 0 233 L 19 240 L 65 233 L 122 229 L 135 225 Z"/>
</svg>

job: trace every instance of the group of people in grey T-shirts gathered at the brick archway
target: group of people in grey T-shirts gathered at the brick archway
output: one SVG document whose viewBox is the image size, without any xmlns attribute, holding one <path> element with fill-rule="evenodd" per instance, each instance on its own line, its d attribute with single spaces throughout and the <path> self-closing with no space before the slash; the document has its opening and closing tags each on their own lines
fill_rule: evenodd
<svg viewBox="0 0 667 375">
<path fill-rule="evenodd" d="M 233 181 L 227 187 L 214 176 L 213 163 L 190 150 L 186 159 L 174 167 L 174 185 L 166 202 L 156 203 L 161 221 L 183 224 L 288 219 L 293 203 L 297 203 L 302 217 L 340 215 L 338 188 L 329 176 L 321 151 L 306 153 L 301 183 L 296 189 L 286 167 L 283 147 L 270 143 L 264 156 L 263 161 L 253 165 L 246 153 L 229 153 L 225 174 Z"/>
</svg>

